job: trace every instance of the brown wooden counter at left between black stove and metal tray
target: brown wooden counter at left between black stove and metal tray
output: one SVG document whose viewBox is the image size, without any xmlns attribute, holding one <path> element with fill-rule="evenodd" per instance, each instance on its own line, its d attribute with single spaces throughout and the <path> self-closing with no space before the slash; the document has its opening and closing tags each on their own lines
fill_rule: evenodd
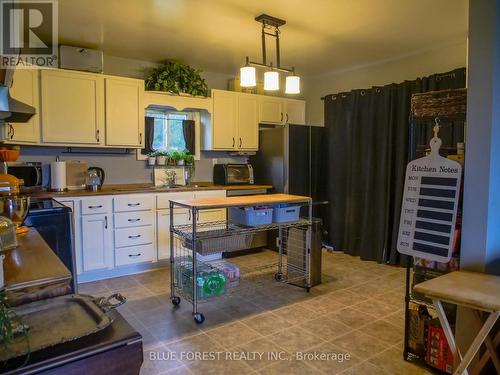
<svg viewBox="0 0 500 375">
<path fill-rule="evenodd" d="M 18 236 L 19 246 L 4 253 L 7 299 L 12 306 L 65 294 L 71 272 L 34 228 Z"/>
</svg>

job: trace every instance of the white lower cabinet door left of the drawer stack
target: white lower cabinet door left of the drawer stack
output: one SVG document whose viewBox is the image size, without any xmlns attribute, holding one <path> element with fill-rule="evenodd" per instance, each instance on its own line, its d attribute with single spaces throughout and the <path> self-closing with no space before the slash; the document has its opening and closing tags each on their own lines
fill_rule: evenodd
<svg viewBox="0 0 500 375">
<path fill-rule="evenodd" d="M 110 215 L 82 216 L 83 272 L 113 267 Z"/>
</svg>

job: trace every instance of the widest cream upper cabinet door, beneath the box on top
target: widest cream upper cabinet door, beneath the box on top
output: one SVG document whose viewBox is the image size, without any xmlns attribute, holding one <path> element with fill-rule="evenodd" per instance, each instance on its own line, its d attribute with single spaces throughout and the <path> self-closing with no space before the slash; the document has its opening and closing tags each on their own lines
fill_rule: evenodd
<svg viewBox="0 0 500 375">
<path fill-rule="evenodd" d="M 104 144 L 104 78 L 65 70 L 41 71 L 42 141 Z"/>
</svg>

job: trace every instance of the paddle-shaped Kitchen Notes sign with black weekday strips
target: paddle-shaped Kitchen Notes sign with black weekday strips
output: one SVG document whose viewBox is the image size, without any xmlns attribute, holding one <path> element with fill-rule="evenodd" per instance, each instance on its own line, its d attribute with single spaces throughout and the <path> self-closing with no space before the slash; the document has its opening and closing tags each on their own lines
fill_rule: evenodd
<svg viewBox="0 0 500 375">
<path fill-rule="evenodd" d="M 398 251 L 431 261 L 448 262 L 453 250 L 462 166 L 439 155 L 441 140 L 430 141 L 431 153 L 406 167 Z"/>
</svg>

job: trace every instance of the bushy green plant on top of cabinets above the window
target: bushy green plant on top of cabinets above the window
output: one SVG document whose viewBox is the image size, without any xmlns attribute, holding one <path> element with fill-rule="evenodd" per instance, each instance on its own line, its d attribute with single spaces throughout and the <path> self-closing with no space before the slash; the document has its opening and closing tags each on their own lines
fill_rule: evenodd
<svg viewBox="0 0 500 375">
<path fill-rule="evenodd" d="M 145 80 L 146 90 L 167 91 L 173 94 L 208 96 L 208 87 L 201 71 L 187 64 L 165 60 L 153 69 Z"/>
</svg>

